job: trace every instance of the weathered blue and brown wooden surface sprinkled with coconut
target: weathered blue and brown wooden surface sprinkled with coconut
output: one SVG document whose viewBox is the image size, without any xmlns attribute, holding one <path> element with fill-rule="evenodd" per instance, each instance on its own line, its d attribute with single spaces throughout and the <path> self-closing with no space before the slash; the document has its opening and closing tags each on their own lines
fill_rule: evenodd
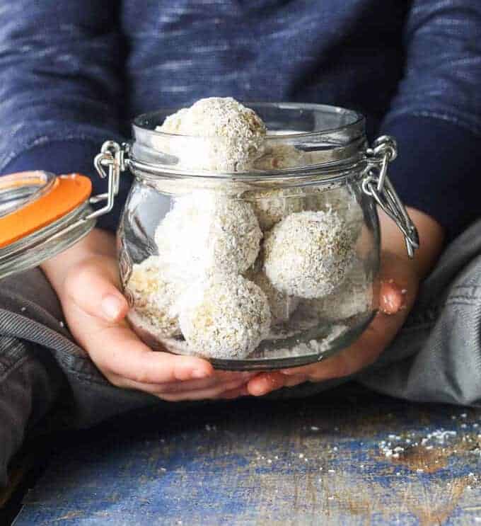
<svg viewBox="0 0 481 526">
<path fill-rule="evenodd" d="M 15 526 L 481 524 L 478 423 L 352 387 L 147 411 L 64 437 Z"/>
</svg>

